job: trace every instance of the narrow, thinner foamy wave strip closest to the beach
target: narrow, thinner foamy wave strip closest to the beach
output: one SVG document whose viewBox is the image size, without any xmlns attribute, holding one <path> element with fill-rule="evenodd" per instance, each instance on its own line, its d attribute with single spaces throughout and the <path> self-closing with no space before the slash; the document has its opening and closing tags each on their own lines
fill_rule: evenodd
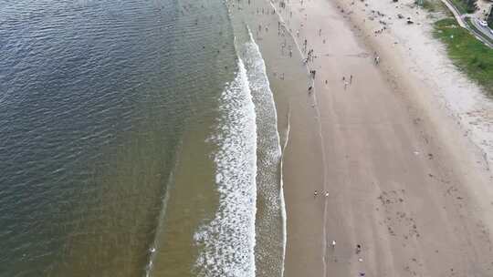
<svg viewBox="0 0 493 277">
<path fill-rule="evenodd" d="M 286 210 L 276 103 L 265 61 L 249 28 L 248 35 L 249 41 L 240 48 L 257 114 L 257 197 L 263 200 L 259 202 L 262 213 L 257 216 L 257 241 L 262 242 L 256 249 L 257 267 L 269 276 L 282 276 L 286 250 Z"/>
</svg>

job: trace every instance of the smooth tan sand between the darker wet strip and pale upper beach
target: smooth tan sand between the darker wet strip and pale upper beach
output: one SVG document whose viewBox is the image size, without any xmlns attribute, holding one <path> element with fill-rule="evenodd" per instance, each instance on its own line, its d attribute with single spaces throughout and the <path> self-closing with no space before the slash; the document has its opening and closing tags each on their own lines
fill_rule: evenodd
<svg viewBox="0 0 493 277">
<path fill-rule="evenodd" d="M 310 67 L 317 70 L 327 176 L 319 190 L 330 192 L 311 200 L 313 212 L 325 203 L 325 239 L 307 237 L 327 249 L 315 275 L 492 276 L 492 182 L 482 153 L 435 103 L 435 87 L 409 72 L 410 57 L 396 55 L 392 37 L 372 36 L 365 11 L 358 17 L 342 1 L 291 5 L 291 28 L 317 56 Z M 344 89 L 341 79 L 351 75 Z M 299 149 L 288 148 L 287 159 L 298 156 L 289 151 Z M 288 197 L 288 219 L 300 213 L 290 203 L 306 200 Z M 334 249 L 322 243 L 331 240 Z M 287 276 L 310 273 L 299 256 L 304 250 L 291 245 Z"/>
</svg>

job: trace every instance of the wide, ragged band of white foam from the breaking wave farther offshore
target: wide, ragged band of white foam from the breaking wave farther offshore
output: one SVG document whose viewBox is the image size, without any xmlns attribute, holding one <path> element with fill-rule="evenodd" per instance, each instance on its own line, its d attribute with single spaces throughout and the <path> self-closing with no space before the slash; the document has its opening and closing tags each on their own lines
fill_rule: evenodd
<svg viewBox="0 0 493 277">
<path fill-rule="evenodd" d="M 200 227 L 198 276 L 254 277 L 257 212 L 257 126 L 247 70 L 238 71 L 220 99 L 215 136 L 215 182 L 219 206 L 215 218 Z"/>
</svg>

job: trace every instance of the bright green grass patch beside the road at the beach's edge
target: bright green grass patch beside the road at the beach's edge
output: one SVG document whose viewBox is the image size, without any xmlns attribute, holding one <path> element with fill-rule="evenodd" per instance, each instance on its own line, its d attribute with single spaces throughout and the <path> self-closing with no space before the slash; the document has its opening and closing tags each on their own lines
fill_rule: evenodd
<svg viewBox="0 0 493 277">
<path fill-rule="evenodd" d="M 488 95 L 493 97 L 493 49 L 458 26 L 454 18 L 435 22 L 434 35 L 446 44 L 456 67 L 485 87 Z"/>
</svg>

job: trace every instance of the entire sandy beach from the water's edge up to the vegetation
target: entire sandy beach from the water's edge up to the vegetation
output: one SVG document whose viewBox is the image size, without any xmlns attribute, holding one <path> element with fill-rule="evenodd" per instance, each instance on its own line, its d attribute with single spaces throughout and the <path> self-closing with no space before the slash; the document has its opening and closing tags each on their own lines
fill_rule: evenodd
<svg viewBox="0 0 493 277">
<path fill-rule="evenodd" d="M 243 5 L 287 141 L 288 277 L 493 275 L 491 103 L 406 2 Z"/>
</svg>

